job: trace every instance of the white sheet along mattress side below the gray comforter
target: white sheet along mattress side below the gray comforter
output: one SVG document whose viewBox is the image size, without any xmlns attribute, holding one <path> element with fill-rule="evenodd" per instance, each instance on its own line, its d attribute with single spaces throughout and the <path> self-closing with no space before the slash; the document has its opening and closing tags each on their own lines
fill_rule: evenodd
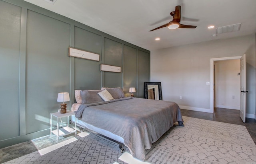
<svg viewBox="0 0 256 164">
<path fill-rule="evenodd" d="M 71 107 L 71 111 L 76 111 L 78 109 L 78 107 L 80 106 L 81 104 L 80 103 L 74 103 Z M 104 135 L 106 137 L 109 137 L 111 139 L 114 139 L 115 141 L 118 141 L 120 143 L 123 143 L 124 144 L 124 139 L 118 135 L 115 135 L 109 131 L 106 131 L 104 129 L 100 129 L 98 127 L 94 127 L 93 125 L 90 125 L 88 123 L 85 123 L 84 121 L 81 121 L 79 119 L 76 119 L 75 115 L 72 115 L 71 116 L 71 121 L 75 122 L 76 120 L 76 124 L 77 126 L 81 126 L 81 127 L 84 127 L 84 128 L 87 128 L 87 129 L 90 129 L 92 131 L 95 131 L 97 133 L 100 133 L 101 135 Z"/>
</svg>

